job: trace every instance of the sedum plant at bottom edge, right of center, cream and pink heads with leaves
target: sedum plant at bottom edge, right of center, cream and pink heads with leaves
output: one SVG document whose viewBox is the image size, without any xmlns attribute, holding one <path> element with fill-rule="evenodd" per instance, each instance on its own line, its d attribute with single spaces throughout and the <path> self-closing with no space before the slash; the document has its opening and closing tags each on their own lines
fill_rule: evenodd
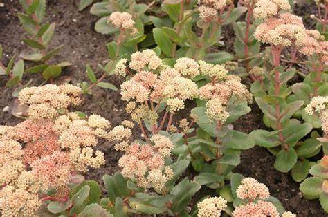
<svg viewBox="0 0 328 217">
<path fill-rule="evenodd" d="M 228 201 L 221 196 L 219 198 L 206 197 L 197 205 L 197 216 L 221 216 L 222 213 L 235 217 L 296 216 L 290 211 L 284 211 L 279 200 L 270 196 L 268 187 L 254 178 L 244 178 L 235 173 L 232 176 L 232 185 L 233 192 L 230 192 Z M 234 198 L 233 201 L 231 201 L 232 198 Z"/>
</svg>

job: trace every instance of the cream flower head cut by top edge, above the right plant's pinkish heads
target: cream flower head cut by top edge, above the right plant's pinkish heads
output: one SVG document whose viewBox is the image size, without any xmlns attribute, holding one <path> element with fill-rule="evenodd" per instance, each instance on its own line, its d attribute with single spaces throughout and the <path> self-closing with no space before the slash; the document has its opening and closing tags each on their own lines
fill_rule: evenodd
<svg viewBox="0 0 328 217">
<path fill-rule="evenodd" d="M 255 19 L 267 19 L 274 17 L 280 10 L 291 10 L 288 0 L 259 0 L 255 4 Z"/>
</svg>

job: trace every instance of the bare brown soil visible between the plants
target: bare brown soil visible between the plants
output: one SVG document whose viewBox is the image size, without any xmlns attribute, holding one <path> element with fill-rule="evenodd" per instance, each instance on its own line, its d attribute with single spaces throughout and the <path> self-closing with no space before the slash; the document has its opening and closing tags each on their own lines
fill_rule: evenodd
<svg viewBox="0 0 328 217">
<path fill-rule="evenodd" d="M 19 0 L 2 0 L 3 7 L 0 7 L 0 43 L 4 48 L 4 64 L 6 65 L 12 55 L 26 53 L 26 46 L 21 43 L 24 38 L 24 31 L 19 25 L 17 12 L 20 12 L 21 6 Z M 302 15 L 307 26 L 313 26 L 309 15 L 315 12 L 313 6 L 296 6 L 295 13 Z M 306 9 L 306 10 L 304 10 Z M 96 68 L 98 63 L 107 59 L 107 50 L 105 44 L 111 41 L 108 36 L 100 35 L 93 30 L 95 17 L 86 9 L 78 12 L 78 0 L 51 0 L 48 1 L 47 19 L 56 23 L 55 36 L 51 44 L 52 48 L 64 45 L 61 52 L 54 59 L 56 62 L 71 62 L 73 66 L 66 68 L 62 75 L 72 84 L 78 84 L 86 81 L 85 65 L 90 64 Z M 228 32 L 224 34 L 233 35 L 231 28 L 226 28 Z M 227 41 L 228 48 L 231 47 L 231 40 Z M 18 59 L 18 58 L 17 58 Z M 101 76 L 99 72 L 98 76 Z M 23 83 L 33 79 L 32 84 L 40 84 L 42 78 L 40 75 L 28 75 Z M 6 111 L 6 106 L 14 102 L 12 97 L 13 88 L 5 88 L 7 79 L 0 77 L 0 124 L 16 124 L 21 119 L 11 115 Z M 119 86 L 121 79 L 109 77 L 107 82 Z M 245 81 L 248 83 L 248 81 Z M 124 111 L 124 104 L 120 100 L 118 91 L 108 91 L 103 88 L 94 88 L 93 95 L 85 97 L 84 103 L 78 108 L 87 114 L 98 113 L 110 120 L 113 126 L 120 124 L 122 120 L 127 119 Z M 264 129 L 262 124 L 262 112 L 253 104 L 252 111 L 235 123 L 235 129 L 249 133 L 255 129 Z M 100 150 L 105 153 L 106 165 L 101 169 L 91 170 L 86 178 L 93 178 L 102 182 L 104 174 L 112 174 L 118 171 L 118 158 L 120 153 L 111 148 L 111 144 L 103 142 Z M 244 176 L 253 177 L 263 182 L 271 191 L 271 194 L 280 199 L 286 210 L 292 211 L 298 216 L 327 216 L 322 210 L 318 200 L 305 200 L 298 189 L 299 183 L 291 178 L 290 173 L 280 173 L 273 168 L 275 157 L 262 147 L 254 147 L 242 153 L 242 162 L 235 169 L 235 172 L 242 173 Z M 192 174 L 190 174 L 192 176 Z M 194 201 L 192 202 L 194 204 Z"/>
</svg>

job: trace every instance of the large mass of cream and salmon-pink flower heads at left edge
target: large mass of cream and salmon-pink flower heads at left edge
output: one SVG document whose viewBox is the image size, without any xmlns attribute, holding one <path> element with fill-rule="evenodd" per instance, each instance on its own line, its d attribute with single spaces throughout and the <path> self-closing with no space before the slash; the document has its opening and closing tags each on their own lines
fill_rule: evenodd
<svg viewBox="0 0 328 217">
<path fill-rule="evenodd" d="M 28 120 L 0 127 L 0 185 L 6 186 L 0 208 L 5 216 L 35 216 L 41 194 L 55 189 L 54 198 L 65 199 L 73 173 L 104 164 L 104 154 L 92 147 L 98 138 L 109 138 L 110 124 L 99 115 L 84 120 L 69 113 L 70 105 L 80 103 L 79 95 L 80 88 L 69 84 L 19 93 L 20 102 L 28 105 Z"/>
</svg>

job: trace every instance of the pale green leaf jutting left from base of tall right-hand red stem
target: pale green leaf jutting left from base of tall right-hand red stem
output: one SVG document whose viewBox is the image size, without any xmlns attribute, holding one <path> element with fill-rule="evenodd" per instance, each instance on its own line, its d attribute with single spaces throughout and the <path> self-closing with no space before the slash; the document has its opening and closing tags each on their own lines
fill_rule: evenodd
<svg viewBox="0 0 328 217">
<path fill-rule="evenodd" d="M 250 133 L 255 140 L 255 144 L 266 147 L 273 148 L 280 145 L 280 140 L 278 135 L 271 135 L 271 132 L 264 130 L 255 130 Z"/>
</svg>

